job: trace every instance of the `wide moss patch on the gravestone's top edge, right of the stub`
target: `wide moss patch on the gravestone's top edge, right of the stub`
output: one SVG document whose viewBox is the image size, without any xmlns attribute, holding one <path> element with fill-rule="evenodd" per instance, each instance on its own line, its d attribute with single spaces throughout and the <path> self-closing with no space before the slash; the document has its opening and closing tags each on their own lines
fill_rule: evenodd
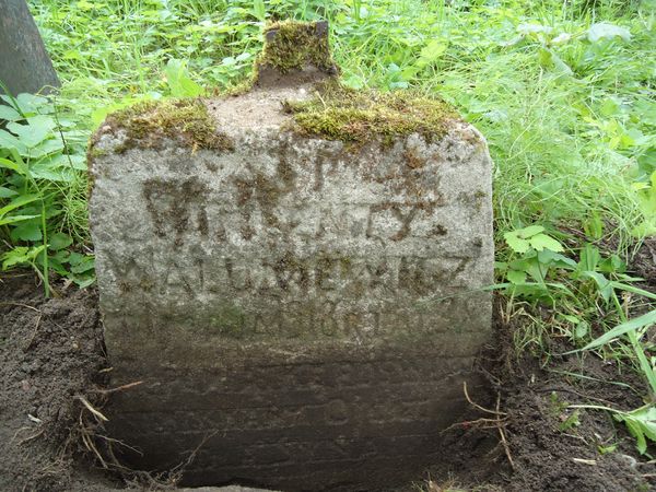
<svg viewBox="0 0 656 492">
<path fill-rule="evenodd" d="M 311 137 L 363 144 L 372 138 L 391 143 L 395 137 L 419 133 L 429 141 L 445 134 L 455 109 L 440 98 L 411 91 L 355 91 L 338 81 L 316 85 L 313 98 L 286 102 L 291 130 Z"/>
</svg>

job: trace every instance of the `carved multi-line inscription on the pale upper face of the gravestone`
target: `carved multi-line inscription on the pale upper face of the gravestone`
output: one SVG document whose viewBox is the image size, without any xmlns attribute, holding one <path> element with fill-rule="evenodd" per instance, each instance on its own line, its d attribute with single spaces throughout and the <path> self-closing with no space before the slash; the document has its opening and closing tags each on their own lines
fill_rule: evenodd
<svg viewBox="0 0 656 492">
<path fill-rule="evenodd" d="M 138 255 L 109 255 L 117 290 L 143 293 L 165 319 L 199 306 L 195 326 L 237 339 L 359 339 L 467 318 L 449 296 L 478 274 L 484 233 L 454 239 L 445 208 L 477 212 L 481 191 L 443 189 L 444 162 L 417 152 L 350 162 L 277 145 L 233 163 L 203 157 L 211 178 L 145 177 L 139 195 L 154 237 Z"/>
</svg>

